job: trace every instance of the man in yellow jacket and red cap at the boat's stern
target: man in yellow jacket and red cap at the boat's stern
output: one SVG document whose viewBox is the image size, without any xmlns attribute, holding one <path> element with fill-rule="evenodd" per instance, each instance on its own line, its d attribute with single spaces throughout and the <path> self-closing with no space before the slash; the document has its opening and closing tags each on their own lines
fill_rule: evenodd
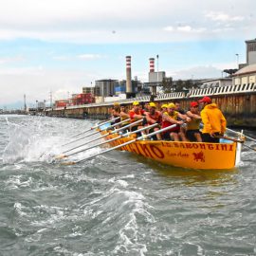
<svg viewBox="0 0 256 256">
<path fill-rule="evenodd" d="M 202 103 L 201 118 L 204 124 L 202 139 L 204 142 L 219 143 L 221 136 L 226 131 L 227 121 L 221 110 L 215 103 L 211 103 L 209 97 L 204 97 L 199 101 Z"/>
</svg>

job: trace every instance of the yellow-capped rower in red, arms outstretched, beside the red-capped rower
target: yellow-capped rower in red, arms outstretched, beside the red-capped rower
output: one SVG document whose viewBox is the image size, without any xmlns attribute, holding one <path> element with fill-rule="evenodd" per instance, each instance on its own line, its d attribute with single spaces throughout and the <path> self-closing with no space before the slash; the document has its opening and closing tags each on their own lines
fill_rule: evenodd
<svg viewBox="0 0 256 256">
<path fill-rule="evenodd" d="M 180 120 L 178 120 L 178 118 Z M 180 138 L 182 141 L 188 141 L 183 133 L 180 133 L 180 125 L 185 123 L 186 121 L 190 121 L 186 115 L 182 115 L 175 110 L 174 103 L 168 104 L 167 112 L 165 112 L 162 116 L 162 128 L 171 126 L 173 124 L 177 124 L 174 128 L 169 131 L 163 133 L 163 137 L 167 140 L 172 138 L 174 141 L 179 141 Z"/>
</svg>

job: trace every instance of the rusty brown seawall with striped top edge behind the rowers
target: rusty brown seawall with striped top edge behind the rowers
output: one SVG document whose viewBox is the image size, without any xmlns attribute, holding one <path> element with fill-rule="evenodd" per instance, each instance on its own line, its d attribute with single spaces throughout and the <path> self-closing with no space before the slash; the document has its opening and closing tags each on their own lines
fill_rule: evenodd
<svg viewBox="0 0 256 256">
<path fill-rule="evenodd" d="M 223 111 L 229 126 L 256 129 L 256 84 L 248 83 L 191 90 L 189 93 L 174 92 L 155 96 L 155 103 L 161 104 L 180 101 L 182 108 L 189 109 L 191 101 L 209 96 Z M 133 101 L 150 101 L 150 96 L 119 101 L 132 108 Z M 115 98 L 114 98 L 115 99 Z M 108 119 L 113 102 L 101 102 L 79 106 L 68 106 L 46 110 L 46 116 L 76 119 Z M 115 101 L 116 102 L 116 101 Z"/>
</svg>

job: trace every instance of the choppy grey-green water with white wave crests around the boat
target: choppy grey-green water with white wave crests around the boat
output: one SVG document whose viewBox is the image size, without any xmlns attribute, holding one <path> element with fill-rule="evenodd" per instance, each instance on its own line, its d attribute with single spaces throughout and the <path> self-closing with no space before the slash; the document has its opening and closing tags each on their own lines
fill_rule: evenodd
<svg viewBox="0 0 256 256">
<path fill-rule="evenodd" d="M 50 162 L 94 124 L 0 116 L 0 255 L 256 255 L 256 152 L 232 171 L 117 151 Z"/>
</svg>

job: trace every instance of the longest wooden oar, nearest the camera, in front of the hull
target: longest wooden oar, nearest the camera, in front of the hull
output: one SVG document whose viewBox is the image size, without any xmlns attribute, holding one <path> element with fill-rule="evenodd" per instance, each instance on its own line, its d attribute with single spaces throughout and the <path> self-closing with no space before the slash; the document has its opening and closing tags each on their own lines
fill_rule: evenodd
<svg viewBox="0 0 256 256">
<path fill-rule="evenodd" d="M 163 128 L 163 129 L 160 129 L 160 130 L 158 130 L 158 131 L 155 131 L 155 132 L 153 132 L 153 133 L 151 133 L 151 134 L 143 135 L 143 136 L 141 136 L 141 137 L 134 138 L 134 139 L 129 140 L 129 141 L 125 142 L 125 143 L 122 143 L 122 144 L 120 144 L 120 145 L 118 145 L 118 146 L 115 146 L 115 147 L 113 147 L 113 148 L 110 148 L 110 149 L 107 149 L 107 150 L 105 150 L 105 151 L 102 151 L 102 152 L 100 152 L 100 153 L 98 153 L 98 154 L 89 155 L 89 156 L 87 156 L 87 157 L 85 157 L 85 158 L 83 158 L 83 159 L 81 159 L 81 160 L 78 160 L 78 161 L 70 161 L 70 162 L 63 162 L 62 164 L 64 164 L 64 165 L 73 165 L 73 164 L 76 164 L 76 163 L 84 162 L 84 161 L 86 161 L 86 160 L 88 160 L 88 159 L 94 158 L 95 156 L 102 155 L 102 154 L 105 154 L 105 153 L 110 152 L 110 151 L 112 151 L 112 150 L 116 150 L 116 149 L 119 149 L 119 148 L 121 148 L 121 147 L 123 147 L 123 146 L 132 144 L 132 143 L 136 142 L 137 140 L 145 139 L 145 138 L 147 138 L 147 137 L 152 137 L 152 136 L 155 136 L 155 135 L 157 135 L 157 134 L 159 134 L 159 133 L 168 131 L 168 130 L 174 128 L 175 126 L 176 126 L 176 124 L 171 125 L 171 126 L 168 126 L 168 127 L 165 127 L 165 128 Z M 147 129 L 148 129 L 148 127 L 147 127 Z"/>
</svg>

